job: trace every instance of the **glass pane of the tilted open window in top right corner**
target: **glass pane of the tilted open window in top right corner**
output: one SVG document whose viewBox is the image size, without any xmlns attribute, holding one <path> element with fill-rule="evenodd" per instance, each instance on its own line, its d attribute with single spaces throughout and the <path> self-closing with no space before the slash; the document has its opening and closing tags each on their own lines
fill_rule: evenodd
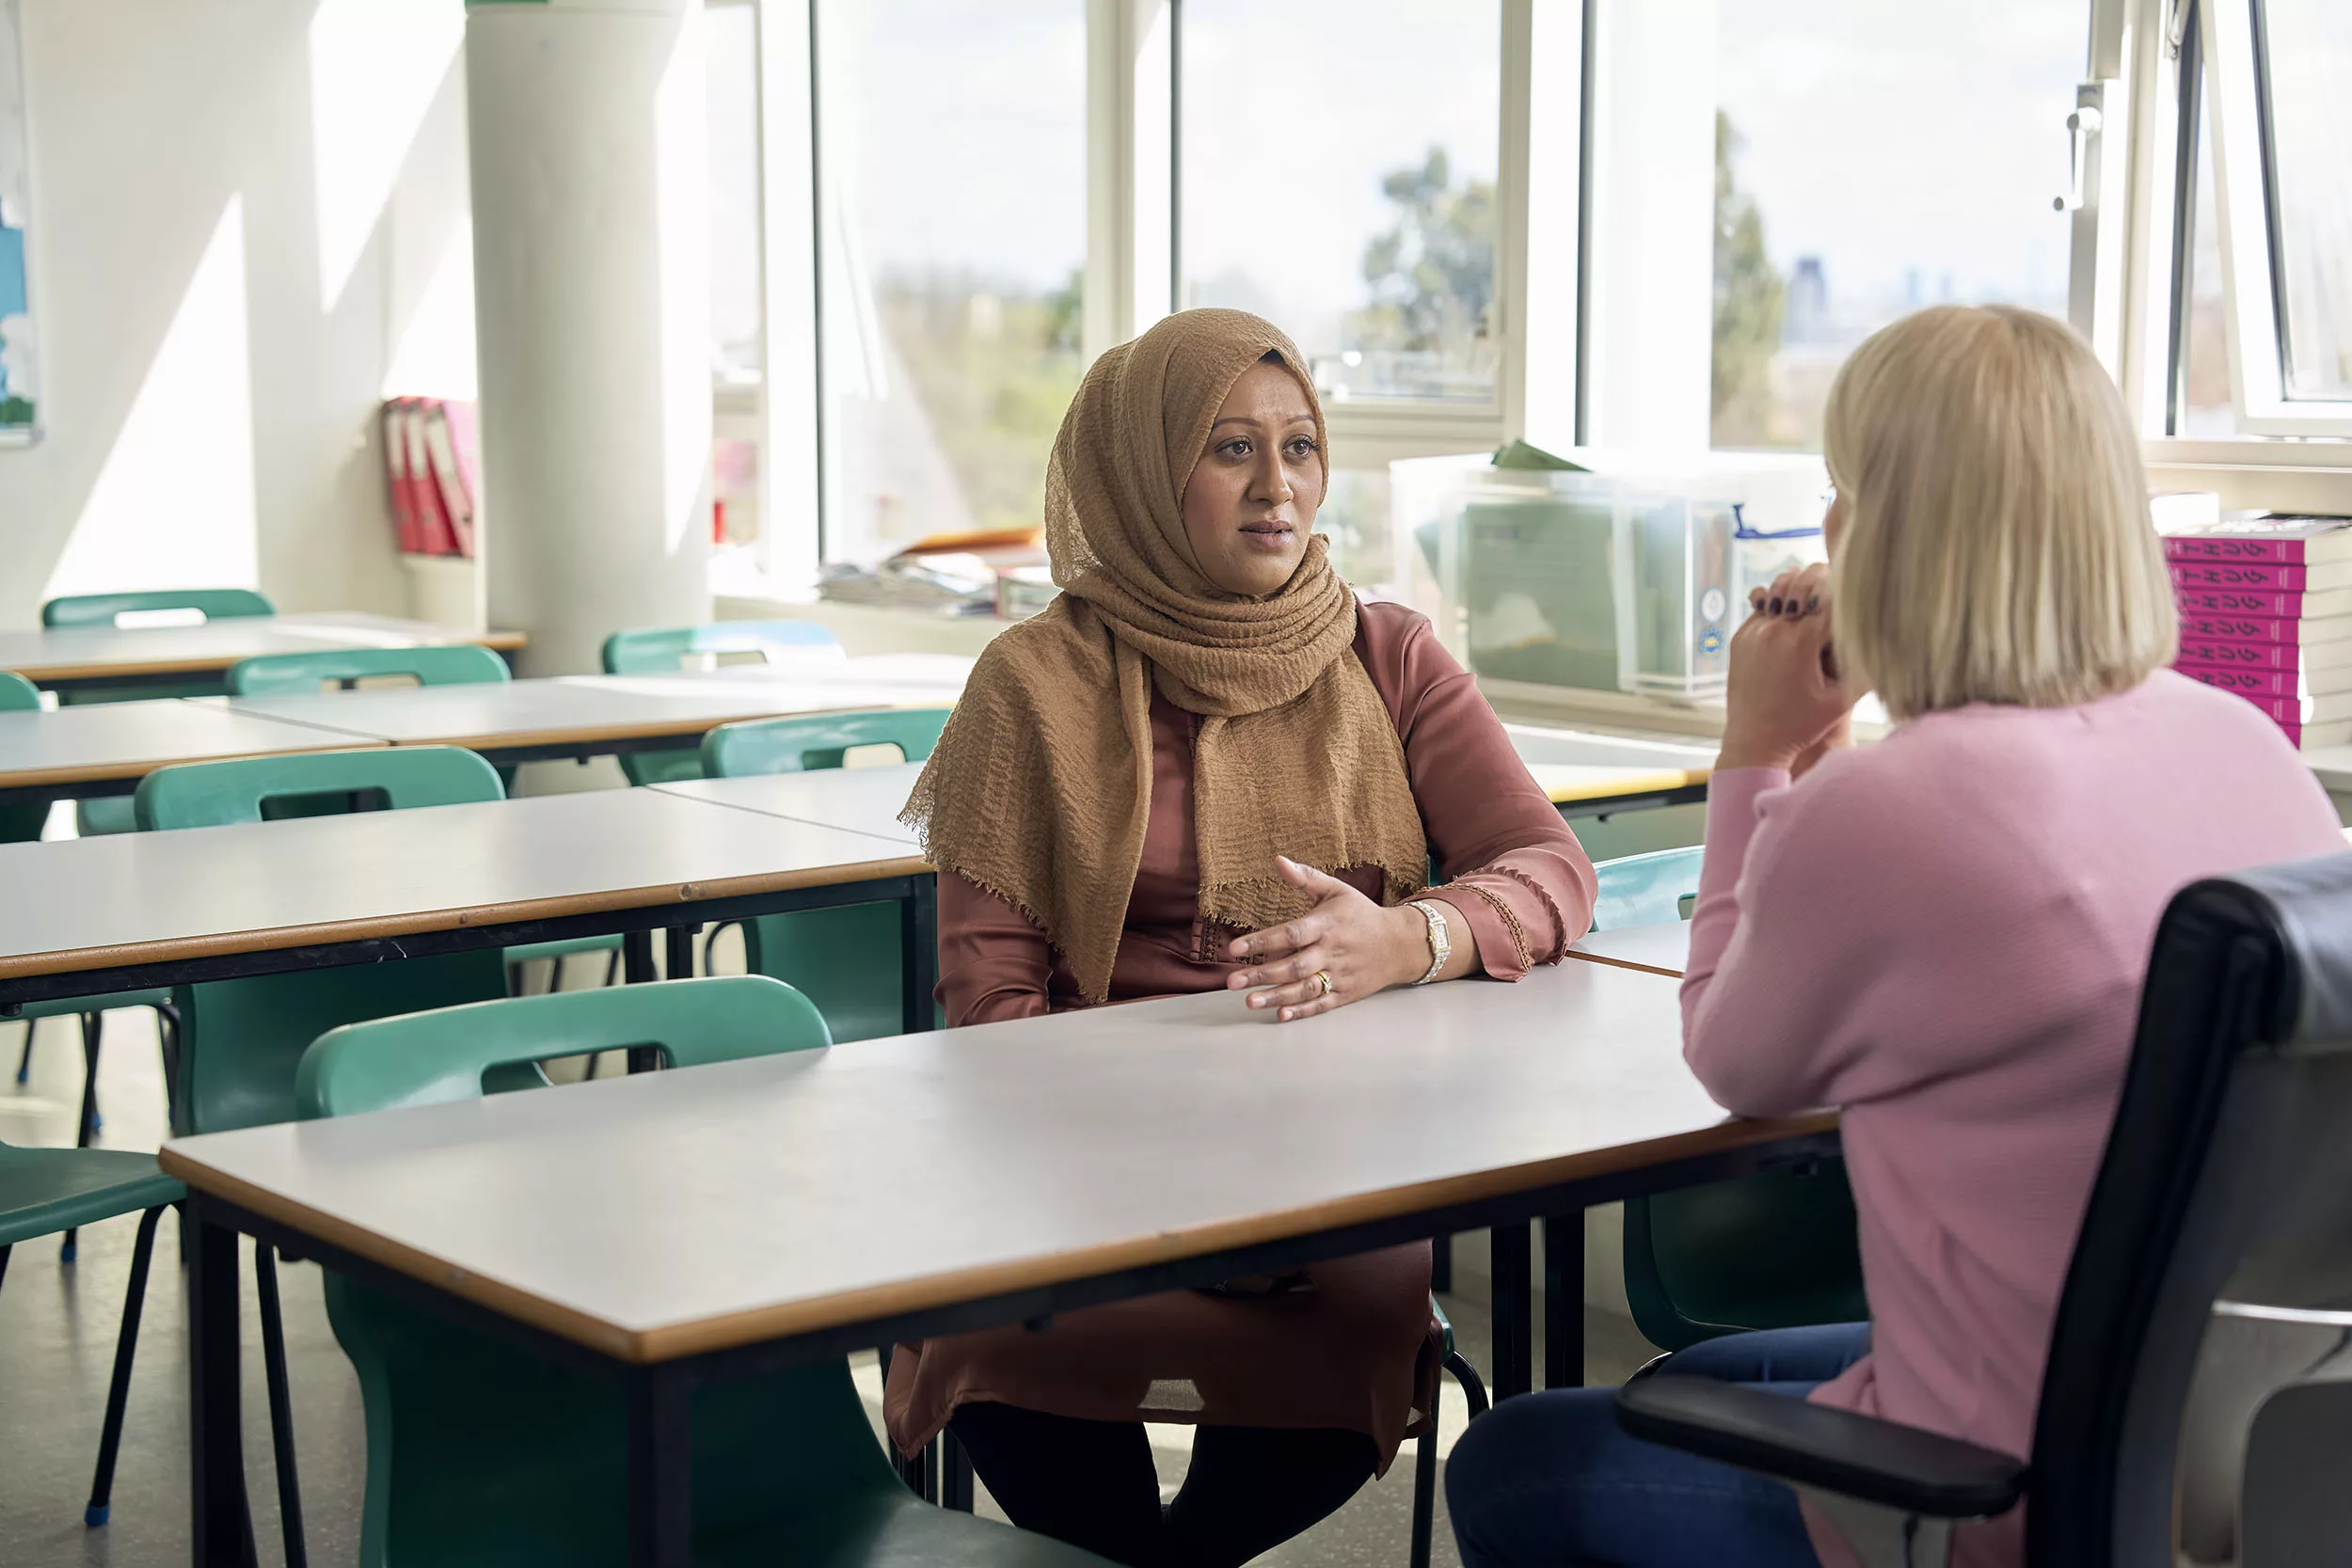
<svg viewBox="0 0 2352 1568">
<path fill-rule="evenodd" d="M 2286 395 L 2352 397 L 2352 5 L 2260 0 Z"/>
</svg>

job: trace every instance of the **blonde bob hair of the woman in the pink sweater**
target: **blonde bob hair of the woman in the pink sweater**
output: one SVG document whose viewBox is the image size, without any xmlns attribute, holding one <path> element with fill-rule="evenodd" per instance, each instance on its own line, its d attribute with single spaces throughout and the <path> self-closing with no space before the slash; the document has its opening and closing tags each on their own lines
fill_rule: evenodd
<svg viewBox="0 0 2352 1568">
<path fill-rule="evenodd" d="M 1903 317 L 1837 374 L 1823 449 L 1846 501 L 1837 656 L 1893 719 L 2065 708 L 2173 661 L 2140 442 L 2070 327 L 2011 306 Z"/>
</svg>

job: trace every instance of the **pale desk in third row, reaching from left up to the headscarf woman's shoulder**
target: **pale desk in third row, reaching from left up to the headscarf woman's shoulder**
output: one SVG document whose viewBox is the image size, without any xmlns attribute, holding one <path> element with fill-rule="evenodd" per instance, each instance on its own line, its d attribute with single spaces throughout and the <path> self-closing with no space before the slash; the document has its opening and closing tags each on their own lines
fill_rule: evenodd
<svg viewBox="0 0 2352 1568">
<path fill-rule="evenodd" d="M 739 719 L 847 708 L 943 708 L 962 682 L 884 675 L 858 661 L 739 677 L 557 675 L 463 686 L 374 686 L 280 696 L 188 698 L 289 724 L 334 729 L 390 745 L 463 745 L 496 764 L 550 757 L 616 757 L 696 745 Z"/>
</svg>

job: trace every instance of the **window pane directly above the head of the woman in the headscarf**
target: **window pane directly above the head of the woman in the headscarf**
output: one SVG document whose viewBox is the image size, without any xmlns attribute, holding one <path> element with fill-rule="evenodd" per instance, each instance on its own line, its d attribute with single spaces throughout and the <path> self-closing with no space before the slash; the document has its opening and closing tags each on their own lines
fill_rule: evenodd
<svg viewBox="0 0 2352 1568">
<path fill-rule="evenodd" d="M 1291 334 L 1331 402 L 1494 397 L 1501 5 L 1183 0 L 1188 306 Z"/>
</svg>

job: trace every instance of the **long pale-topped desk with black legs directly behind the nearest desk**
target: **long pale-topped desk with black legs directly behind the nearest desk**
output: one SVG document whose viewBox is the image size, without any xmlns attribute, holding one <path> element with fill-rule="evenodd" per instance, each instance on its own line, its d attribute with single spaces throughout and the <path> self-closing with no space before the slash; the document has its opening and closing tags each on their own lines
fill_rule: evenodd
<svg viewBox="0 0 2352 1568">
<path fill-rule="evenodd" d="M 26 1001 L 894 900 L 906 1027 L 931 1025 L 936 900 L 894 839 L 654 790 L 0 844 L 0 1016 Z"/>
</svg>

